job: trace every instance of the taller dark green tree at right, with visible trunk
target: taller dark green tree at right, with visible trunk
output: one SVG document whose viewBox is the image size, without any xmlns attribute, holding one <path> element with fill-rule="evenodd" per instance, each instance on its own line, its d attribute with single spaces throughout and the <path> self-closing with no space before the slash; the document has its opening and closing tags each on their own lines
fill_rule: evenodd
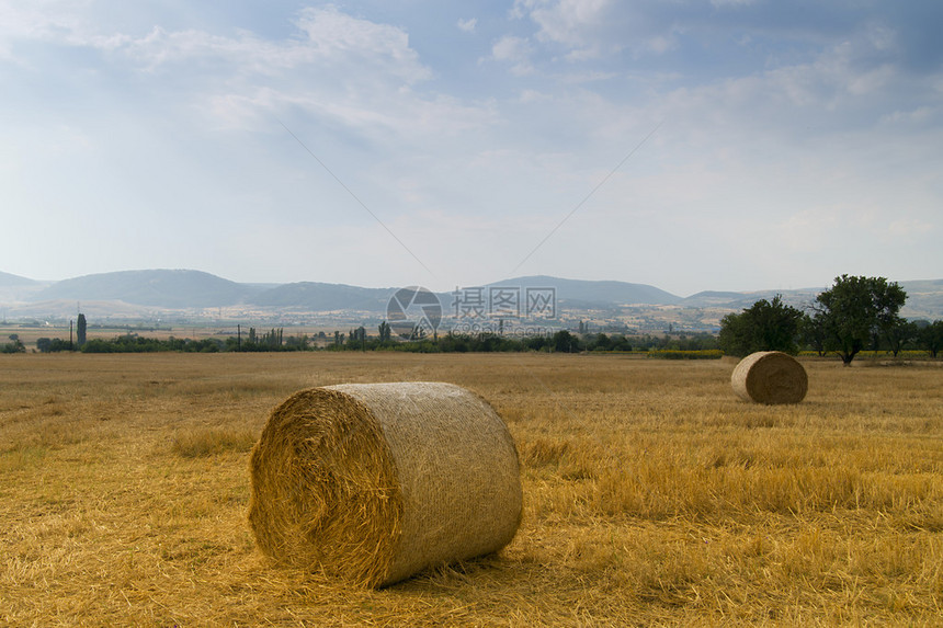
<svg viewBox="0 0 943 628">
<path fill-rule="evenodd" d="M 849 366 L 875 333 L 887 334 L 900 324 L 898 312 L 907 293 L 884 277 L 842 275 L 816 297 L 816 324 L 825 334 L 825 347 Z"/>
</svg>

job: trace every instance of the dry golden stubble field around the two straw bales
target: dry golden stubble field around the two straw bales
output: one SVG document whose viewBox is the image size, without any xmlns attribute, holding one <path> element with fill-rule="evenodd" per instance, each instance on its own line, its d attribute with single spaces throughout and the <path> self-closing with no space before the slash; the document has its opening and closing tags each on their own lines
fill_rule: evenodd
<svg viewBox="0 0 943 628">
<path fill-rule="evenodd" d="M 0 625 L 943 625 L 943 369 L 616 355 L 0 356 Z M 391 587 L 269 563 L 249 448 L 292 392 L 442 380 L 522 460 L 499 555 Z"/>
</svg>

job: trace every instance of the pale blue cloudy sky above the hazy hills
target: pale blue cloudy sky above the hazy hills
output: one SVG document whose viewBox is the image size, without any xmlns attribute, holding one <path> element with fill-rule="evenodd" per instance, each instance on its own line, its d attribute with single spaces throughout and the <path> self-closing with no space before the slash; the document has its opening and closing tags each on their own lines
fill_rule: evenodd
<svg viewBox="0 0 943 628">
<path fill-rule="evenodd" d="M 0 271 L 940 278 L 941 23 L 936 0 L 0 0 Z"/>
</svg>

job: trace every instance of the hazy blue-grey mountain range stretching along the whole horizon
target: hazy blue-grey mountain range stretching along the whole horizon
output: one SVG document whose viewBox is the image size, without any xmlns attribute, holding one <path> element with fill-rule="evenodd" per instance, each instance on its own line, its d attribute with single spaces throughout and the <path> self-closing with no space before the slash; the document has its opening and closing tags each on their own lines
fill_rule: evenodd
<svg viewBox="0 0 943 628">
<path fill-rule="evenodd" d="M 898 282 L 908 294 L 902 310 L 908 318 L 943 318 L 943 279 Z M 702 292 L 680 297 L 646 284 L 616 281 L 583 281 L 545 275 L 514 277 L 484 286 L 554 288 L 561 310 L 612 310 L 638 306 L 674 306 L 682 309 L 740 310 L 761 298 L 782 294 L 794 306 L 811 302 L 823 288 L 761 292 Z M 140 308 L 196 310 L 243 306 L 262 310 L 308 312 L 355 310 L 384 312 L 397 287 L 367 288 L 344 284 L 297 282 L 246 284 L 194 270 L 120 271 L 83 275 L 59 282 L 39 282 L 0 272 L 0 307 L 4 315 L 54 313 L 76 304 L 109 304 L 116 312 Z M 465 289 L 465 288 L 463 288 Z M 453 294 L 439 295 L 447 308 Z"/>
</svg>

